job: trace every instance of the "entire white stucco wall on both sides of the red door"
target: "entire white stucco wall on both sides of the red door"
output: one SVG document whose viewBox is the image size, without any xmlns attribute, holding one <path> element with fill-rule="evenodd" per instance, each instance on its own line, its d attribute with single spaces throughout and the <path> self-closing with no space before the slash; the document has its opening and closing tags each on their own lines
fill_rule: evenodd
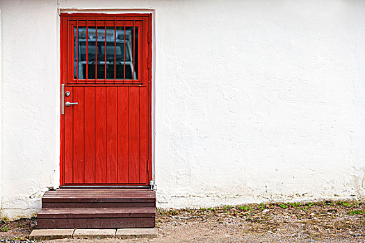
<svg viewBox="0 0 365 243">
<path fill-rule="evenodd" d="M 59 178 L 60 11 L 154 13 L 158 206 L 365 195 L 365 2 L 0 1 L 3 217 Z"/>
</svg>

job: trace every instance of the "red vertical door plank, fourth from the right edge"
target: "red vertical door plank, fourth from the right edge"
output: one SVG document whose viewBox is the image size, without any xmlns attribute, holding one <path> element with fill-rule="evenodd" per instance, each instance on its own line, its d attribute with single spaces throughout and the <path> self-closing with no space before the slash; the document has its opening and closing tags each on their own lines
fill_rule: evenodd
<svg viewBox="0 0 365 243">
<path fill-rule="evenodd" d="M 106 183 L 117 183 L 117 87 L 106 87 Z"/>
</svg>

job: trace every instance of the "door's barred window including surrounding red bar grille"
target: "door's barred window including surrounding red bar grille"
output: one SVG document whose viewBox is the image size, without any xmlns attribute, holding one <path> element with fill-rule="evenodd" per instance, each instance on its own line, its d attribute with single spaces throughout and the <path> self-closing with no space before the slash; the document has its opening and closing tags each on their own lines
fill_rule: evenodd
<svg viewBox="0 0 365 243">
<path fill-rule="evenodd" d="M 85 20 L 72 25 L 73 72 L 68 83 L 143 83 L 141 23 Z"/>
</svg>

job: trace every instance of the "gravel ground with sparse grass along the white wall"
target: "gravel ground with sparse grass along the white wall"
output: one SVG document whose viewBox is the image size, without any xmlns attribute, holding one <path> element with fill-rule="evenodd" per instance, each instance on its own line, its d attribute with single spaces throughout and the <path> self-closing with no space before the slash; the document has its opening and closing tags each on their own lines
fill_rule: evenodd
<svg viewBox="0 0 365 243">
<path fill-rule="evenodd" d="M 27 240 L 35 220 L 3 222 L 0 239 Z M 63 239 L 49 242 L 365 243 L 365 204 L 361 201 L 322 201 L 157 210 L 156 226 L 159 237 L 152 240 Z"/>
</svg>

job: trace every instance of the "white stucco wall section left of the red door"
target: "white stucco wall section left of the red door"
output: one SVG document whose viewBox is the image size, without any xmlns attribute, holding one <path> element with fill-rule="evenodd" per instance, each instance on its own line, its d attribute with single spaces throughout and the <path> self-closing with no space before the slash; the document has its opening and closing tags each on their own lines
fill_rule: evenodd
<svg viewBox="0 0 365 243">
<path fill-rule="evenodd" d="M 56 1 L 0 1 L 3 217 L 30 216 L 59 181 Z"/>
</svg>

